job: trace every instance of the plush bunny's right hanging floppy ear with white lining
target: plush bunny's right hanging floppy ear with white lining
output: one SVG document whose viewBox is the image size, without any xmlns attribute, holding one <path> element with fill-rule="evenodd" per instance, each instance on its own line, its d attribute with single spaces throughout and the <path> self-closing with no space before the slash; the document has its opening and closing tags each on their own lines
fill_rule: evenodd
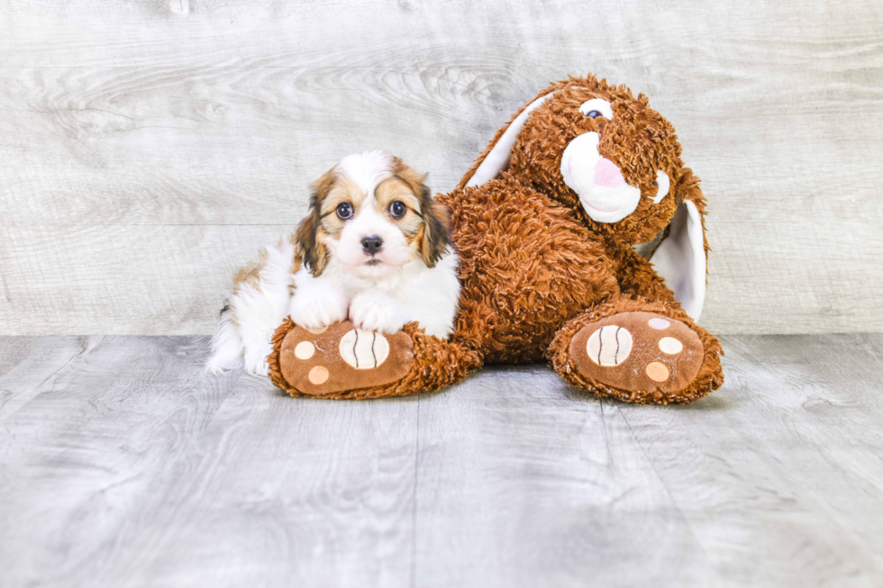
<svg viewBox="0 0 883 588">
<path fill-rule="evenodd" d="M 705 197 L 699 179 L 685 167 L 675 186 L 678 210 L 650 261 L 656 273 L 675 293 L 684 311 L 699 320 L 705 303 Z"/>
</svg>

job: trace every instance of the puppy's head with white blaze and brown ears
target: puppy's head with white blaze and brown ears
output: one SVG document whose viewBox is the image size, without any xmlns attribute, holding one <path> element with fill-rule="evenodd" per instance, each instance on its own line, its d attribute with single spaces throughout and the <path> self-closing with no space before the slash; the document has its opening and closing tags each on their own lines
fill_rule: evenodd
<svg viewBox="0 0 883 588">
<path fill-rule="evenodd" d="M 425 175 L 387 151 L 341 159 L 313 185 L 297 247 L 313 276 L 330 263 L 382 278 L 420 260 L 434 267 L 450 243 L 448 213 L 432 200 Z"/>
</svg>

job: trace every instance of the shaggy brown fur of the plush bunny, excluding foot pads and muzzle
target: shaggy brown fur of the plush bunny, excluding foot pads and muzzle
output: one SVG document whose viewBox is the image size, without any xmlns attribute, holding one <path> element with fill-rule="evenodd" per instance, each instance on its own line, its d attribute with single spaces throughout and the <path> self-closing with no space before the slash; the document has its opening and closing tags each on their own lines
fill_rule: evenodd
<svg viewBox="0 0 883 588">
<path fill-rule="evenodd" d="M 689 403 L 723 384 L 719 341 L 687 316 L 651 263 L 632 249 L 666 230 L 684 201 L 696 204 L 704 218 L 705 198 L 696 176 L 681 161 L 673 127 L 650 108 L 645 96 L 634 97 L 625 86 L 608 86 L 592 76 L 570 77 L 538 97 L 551 93 L 524 123 L 507 170 L 467 187 L 508 124 L 458 188 L 438 197 L 451 213 L 452 240 L 460 255 L 460 310 L 450 342 L 428 338 L 408 325 L 414 365 L 403 380 L 335 397 L 415 394 L 457 382 L 486 362 L 543 358 L 569 384 L 626 402 Z M 579 112 L 579 104 L 593 98 L 612 104 L 613 120 Z M 561 176 L 569 141 L 590 131 L 600 137 L 600 155 L 641 190 L 634 212 L 619 222 L 590 218 Z M 672 181 L 669 194 L 654 204 L 657 170 Z M 707 255 L 707 242 L 704 246 Z M 569 343 L 576 333 L 605 317 L 635 311 L 681 321 L 696 332 L 704 349 L 702 364 L 687 387 L 667 393 L 618 389 L 580 375 L 570 357 Z M 280 387 L 301 394 L 278 370 L 278 345 L 291 328 L 288 322 L 278 330 L 270 371 Z"/>
</svg>

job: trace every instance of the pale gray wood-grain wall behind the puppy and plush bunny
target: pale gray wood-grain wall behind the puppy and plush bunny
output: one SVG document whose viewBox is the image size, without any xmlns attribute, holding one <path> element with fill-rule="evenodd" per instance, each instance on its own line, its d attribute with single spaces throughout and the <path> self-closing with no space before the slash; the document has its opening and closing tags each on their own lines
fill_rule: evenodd
<svg viewBox="0 0 883 588">
<path fill-rule="evenodd" d="M 0 333 L 209 333 L 337 158 L 450 190 L 589 71 L 703 179 L 705 326 L 883 330 L 883 3 L 726 4 L 0 0 Z"/>
</svg>

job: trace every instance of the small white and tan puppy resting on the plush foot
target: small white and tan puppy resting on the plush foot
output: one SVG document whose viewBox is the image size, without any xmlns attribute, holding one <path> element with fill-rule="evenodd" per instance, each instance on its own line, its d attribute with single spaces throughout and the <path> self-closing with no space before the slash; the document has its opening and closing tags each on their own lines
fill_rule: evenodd
<svg viewBox="0 0 883 588">
<path fill-rule="evenodd" d="M 349 318 L 394 333 L 416 321 L 446 339 L 460 297 L 450 222 L 425 176 L 387 151 L 341 159 L 313 185 L 297 231 L 242 268 L 221 311 L 208 369 L 267 375 L 287 315 L 306 329 Z"/>
</svg>

